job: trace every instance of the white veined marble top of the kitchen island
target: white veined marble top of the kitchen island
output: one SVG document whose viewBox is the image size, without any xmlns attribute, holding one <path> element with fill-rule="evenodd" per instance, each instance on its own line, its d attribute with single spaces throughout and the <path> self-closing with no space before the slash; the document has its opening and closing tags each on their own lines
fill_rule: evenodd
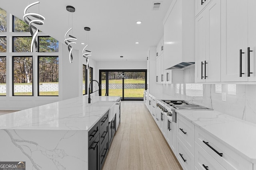
<svg viewBox="0 0 256 170">
<path fill-rule="evenodd" d="M 80 96 L 0 116 L 0 129 L 90 130 L 120 99 L 119 96 Z"/>
</svg>

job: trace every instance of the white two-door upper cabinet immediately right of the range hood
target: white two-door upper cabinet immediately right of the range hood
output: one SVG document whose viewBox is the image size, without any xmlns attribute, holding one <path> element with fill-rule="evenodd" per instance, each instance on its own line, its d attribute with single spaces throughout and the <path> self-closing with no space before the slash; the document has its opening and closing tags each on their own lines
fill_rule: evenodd
<svg viewBox="0 0 256 170">
<path fill-rule="evenodd" d="M 220 0 L 212 0 L 196 17 L 195 82 L 220 82 Z"/>
</svg>

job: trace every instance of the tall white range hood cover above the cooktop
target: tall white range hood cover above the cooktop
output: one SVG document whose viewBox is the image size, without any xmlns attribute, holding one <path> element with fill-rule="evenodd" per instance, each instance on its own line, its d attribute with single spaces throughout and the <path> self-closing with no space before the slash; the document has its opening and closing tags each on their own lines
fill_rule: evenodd
<svg viewBox="0 0 256 170">
<path fill-rule="evenodd" d="M 194 0 L 173 0 L 164 18 L 164 70 L 195 62 Z"/>
</svg>

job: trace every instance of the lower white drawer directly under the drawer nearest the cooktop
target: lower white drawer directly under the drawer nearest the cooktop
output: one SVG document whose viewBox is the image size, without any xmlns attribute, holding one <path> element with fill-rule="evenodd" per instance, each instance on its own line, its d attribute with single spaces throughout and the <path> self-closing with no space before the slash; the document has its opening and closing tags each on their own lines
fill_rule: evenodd
<svg viewBox="0 0 256 170">
<path fill-rule="evenodd" d="M 194 156 L 186 148 L 186 146 L 180 141 L 180 139 L 178 137 L 177 137 L 176 157 L 184 170 L 193 170 L 194 169 Z"/>
</svg>

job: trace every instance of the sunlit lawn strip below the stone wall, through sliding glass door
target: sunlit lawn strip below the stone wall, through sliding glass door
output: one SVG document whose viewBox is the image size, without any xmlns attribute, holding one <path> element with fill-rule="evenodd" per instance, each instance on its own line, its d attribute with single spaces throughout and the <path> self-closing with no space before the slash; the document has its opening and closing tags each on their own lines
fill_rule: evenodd
<svg viewBox="0 0 256 170">
<path fill-rule="evenodd" d="M 124 97 L 126 98 L 143 98 L 143 92 L 145 89 L 124 89 Z M 102 96 L 105 96 L 106 89 L 101 90 Z M 122 89 L 109 89 L 108 96 L 123 96 Z"/>
</svg>

